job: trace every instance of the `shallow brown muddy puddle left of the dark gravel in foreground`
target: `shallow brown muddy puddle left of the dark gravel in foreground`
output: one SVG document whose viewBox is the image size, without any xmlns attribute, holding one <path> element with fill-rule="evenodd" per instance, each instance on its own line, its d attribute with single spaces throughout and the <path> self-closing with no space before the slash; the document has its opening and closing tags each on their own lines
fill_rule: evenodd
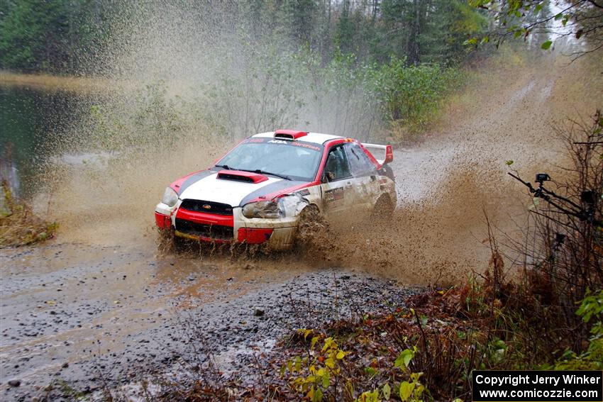
<svg viewBox="0 0 603 402">
<path fill-rule="evenodd" d="M 0 381 L 33 386 L 84 378 L 78 367 L 96 355 L 116 357 L 137 343 L 161 349 L 166 335 L 147 334 L 179 311 L 235 303 L 300 272 L 237 268 L 218 257 L 156 257 L 118 246 L 3 250 Z"/>
</svg>

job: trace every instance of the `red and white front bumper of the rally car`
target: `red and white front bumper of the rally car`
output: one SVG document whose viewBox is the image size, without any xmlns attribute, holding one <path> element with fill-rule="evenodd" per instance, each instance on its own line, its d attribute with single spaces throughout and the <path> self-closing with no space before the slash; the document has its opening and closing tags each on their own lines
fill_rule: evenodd
<svg viewBox="0 0 603 402">
<path fill-rule="evenodd" d="M 164 203 L 155 208 L 157 228 L 172 230 L 181 238 L 216 243 L 266 243 L 271 250 L 287 250 L 293 246 L 297 216 L 292 218 L 245 218 L 241 208 L 233 208 L 232 216 L 180 210 L 179 203 Z"/>
</svg>

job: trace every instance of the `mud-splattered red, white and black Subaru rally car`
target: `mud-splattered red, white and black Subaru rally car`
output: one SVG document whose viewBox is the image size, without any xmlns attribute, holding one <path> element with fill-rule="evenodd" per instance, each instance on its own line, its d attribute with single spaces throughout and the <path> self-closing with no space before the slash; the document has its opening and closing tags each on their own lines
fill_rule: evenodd
<svg viewBox="0 0 603 402">
<path fill-rule="evenodd" d="M 177 238 L 287 250 L 309 210 L 354 218 L 392 213 L 397 196 L 387 164 L 393 159 L 390 145 L 336 135 L 252 135 L 213 167 L 170 184 L 155 208 L 155 223 Z"/>
</svg>

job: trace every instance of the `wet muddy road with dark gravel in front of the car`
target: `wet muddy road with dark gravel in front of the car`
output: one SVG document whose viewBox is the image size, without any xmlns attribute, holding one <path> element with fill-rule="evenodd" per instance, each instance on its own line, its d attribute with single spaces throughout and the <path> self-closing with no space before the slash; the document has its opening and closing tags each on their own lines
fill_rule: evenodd
<svg viewBox="0 0 603 402">
<path fill-rule="evenodd" d="M 198 359 L 191 343 L 228 375 L 248 365 L 253 346 L 269 350 L 296 328 L 394 306 L 411 292 L 349 269 L 227 260 L 75 244 L 2 250 L 2 399 L 127 384 Z"/>
</svg>

